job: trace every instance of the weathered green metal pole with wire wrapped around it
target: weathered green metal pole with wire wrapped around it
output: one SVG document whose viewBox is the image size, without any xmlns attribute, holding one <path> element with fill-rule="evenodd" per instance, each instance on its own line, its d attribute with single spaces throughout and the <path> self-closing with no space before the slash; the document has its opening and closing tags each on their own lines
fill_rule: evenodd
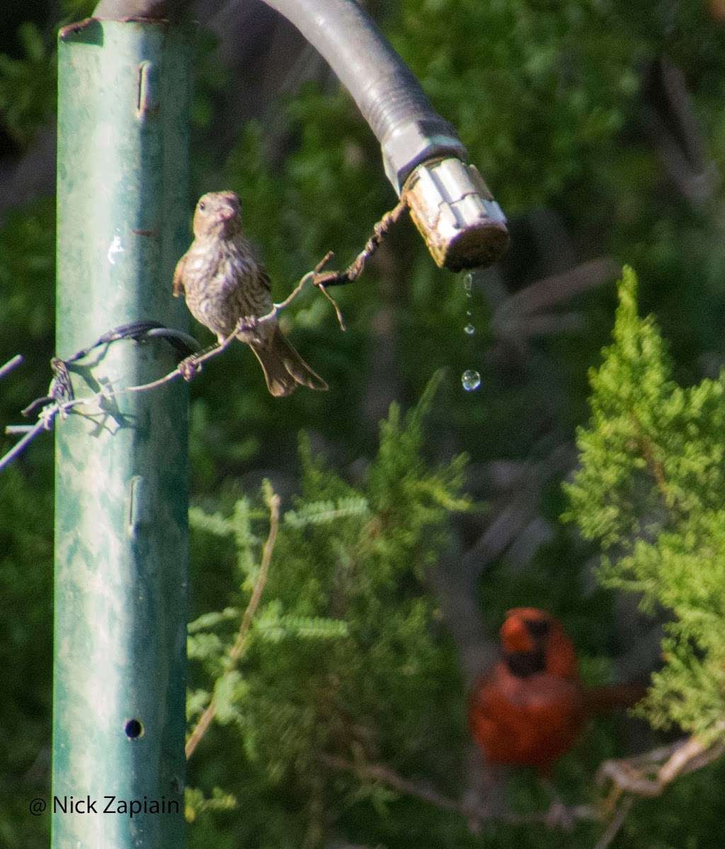
<svg viewBox="0 0 725 849">
<path fill-rule="evenodd" d="M 59 37 L 59 357 L 171 297 L 188 228 L 188 61 L 161 21 Z M 72 367 L 76 397 L 175 365 L 122 340 Z M 57 420 L 52 846 L 184 844 L 187 388 L 120 394 Z"/>
</svg>

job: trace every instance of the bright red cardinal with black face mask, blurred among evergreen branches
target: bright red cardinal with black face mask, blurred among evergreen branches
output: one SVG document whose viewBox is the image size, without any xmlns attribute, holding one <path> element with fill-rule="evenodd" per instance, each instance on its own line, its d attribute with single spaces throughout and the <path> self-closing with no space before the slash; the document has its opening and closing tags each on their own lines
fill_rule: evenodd
<svg viewBox="0 0 725 849">
<path fill-rule="evenodd" d="M 592 711 L 631 706 L 644 695 L 639 684 L 584 689 L 572 641 L 545 610 L 509 610 L 500 635 L 503 657 L 469 702 L 471 734 L 488 762 L 546 772 Z"/>
</svg>

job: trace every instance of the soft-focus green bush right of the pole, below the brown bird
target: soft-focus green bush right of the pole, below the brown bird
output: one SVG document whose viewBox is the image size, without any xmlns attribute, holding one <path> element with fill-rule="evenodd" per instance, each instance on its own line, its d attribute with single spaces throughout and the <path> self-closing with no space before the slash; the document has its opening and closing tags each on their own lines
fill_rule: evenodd
<svg viewBox="0 0 725 849">
<path fill-rule="evenodd" d="M 189 656 L 215 681 L 217 721 L 236 729 L 221 734 L 231 752 L 228 790 L 245 812 L 234 826 L 242 845 L 252 835 L 255 846 L 313 845 L 310 835 L 328 829 L 323 811 L 384 806 L 388 790 L 336 773 L 321 756 L 405 768 L 432 756 L 434 728 L 460 711 L 460 690 L 441 688 L 450 648 L 425 584 L 450 511 L 469 506 L 460 494 L 465 458 L 438 467 L 421 458 L 441 378 L 405 416 L 393 405 L 359 487 L 302 438 L 301 494 L 283 516 L 247 650 L 233 668 L 227 653 L 259 576 L 265 514 L 249 498 L 229 518 L 192 511 L 195 535 L 233 541 L 241 582 L 240 603 L 192 622 Z M 210 697 L 192 692 L 192 721 Z M 195 758 L 204 760 L 207 744 Z M 269 797 L 286 800 L 273 822 Z M 188 804 L 196 817 L 206 801 L 193 791 Z M 193 841 L 208 845 L 209 831 Z"/>
</svg>

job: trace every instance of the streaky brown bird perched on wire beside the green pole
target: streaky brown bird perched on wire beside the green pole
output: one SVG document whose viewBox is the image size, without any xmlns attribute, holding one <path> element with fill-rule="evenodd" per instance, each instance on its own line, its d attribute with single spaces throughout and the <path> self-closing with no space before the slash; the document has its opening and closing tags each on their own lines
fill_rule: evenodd
<svg viewBox="0 0 725 849">
<path fill-rule="evenodd" d="M 272 309 L 270 278 L 244 238 L 242 211 L 234 192 L 209 192 L 194 212 L 194 240 L 176 263 L 174 295 L 186 295 L 192 316 L 222 342 L 240 318 L 250 329 L 237 333 L 254 351 L 274 396 L 289 395 L 297 385 L 326 389 L 282 335 L 276 318 L 255 325 Z"/>
</svg>

